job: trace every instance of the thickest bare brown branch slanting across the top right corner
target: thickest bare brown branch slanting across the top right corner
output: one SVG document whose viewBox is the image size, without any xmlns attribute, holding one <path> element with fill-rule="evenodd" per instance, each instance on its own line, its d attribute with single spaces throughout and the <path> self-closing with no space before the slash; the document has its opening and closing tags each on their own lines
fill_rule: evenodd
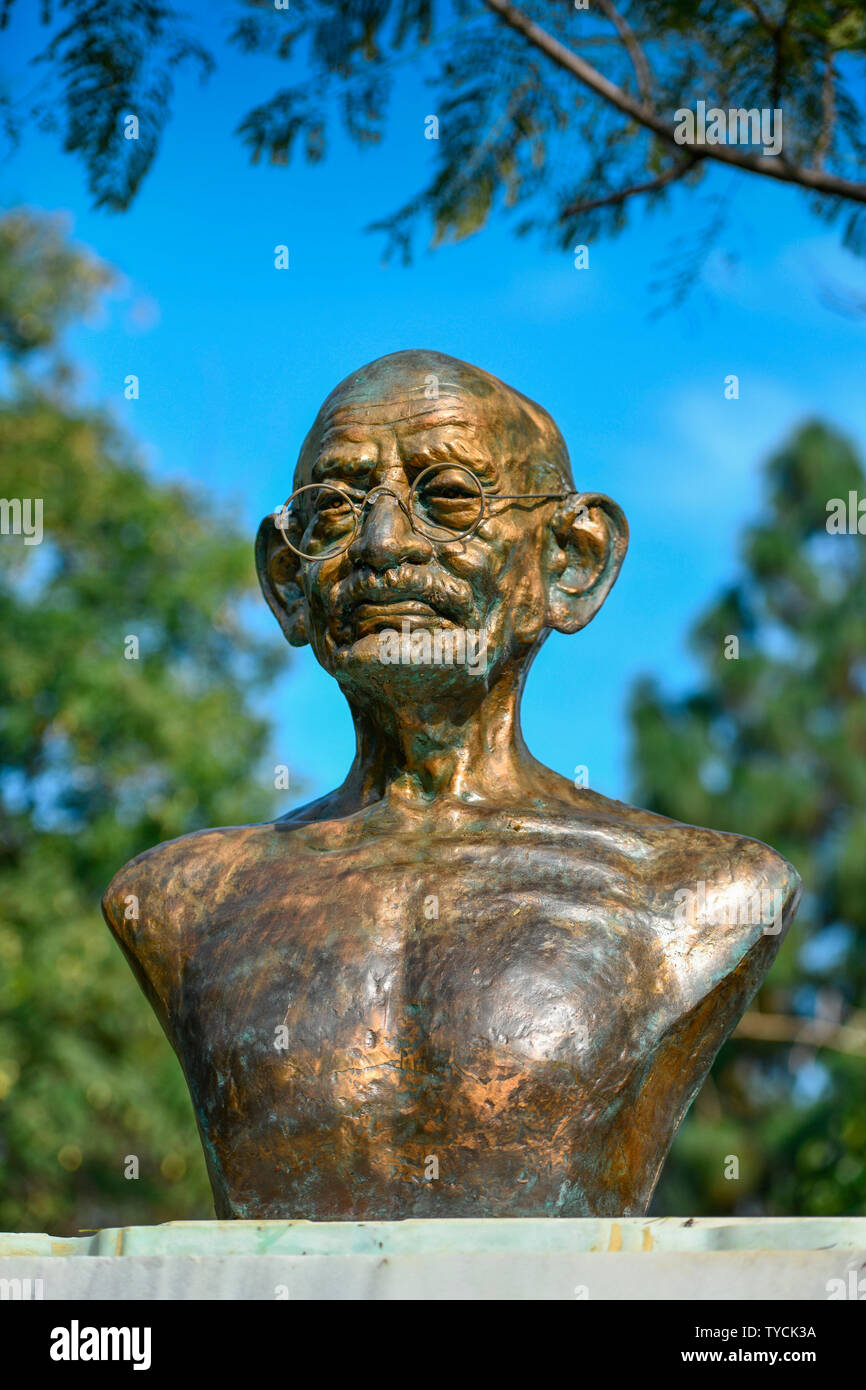
<svg viewBox="0 0 866 1390">
<path fill-rule="evenodd" d="M 621 111 L 623 115 L 630 115 L 634 121 L 638 121 L 645 129 L 653 131 L 655 135 L 659 135 L 669 145 L 676 146 L 677 150 L 681 149 L 674 139 L 673 125 L 663 120 L 657 111 L 644 101 L 637 101 L 627 92 L 623 92 L 621 88 L 610 82 L 603 74 L 581 58 L 580 54 L 573 53 L 564 43 L 555 39 L 552 33 L 548 33 L 546 29 L 542 29 L 541 25 L 530 19 L 510 0 L 484 0 L 484 3 L 503 24 L 521 33 L 534 49 L 552 58 L 557 67 L 570 72 L 571 76 L 582 82 L 584 86 L 588 86 L 596 96 L 603 97 L 605 101 L 616 107 L 617 111 Z M 823 170 L 790 164 L 778 154 L 749 154 L 746 150 L 731 145 L 706 145 L 701 147 L 701 158 L 716 160 L 719 164 L 730 164 L 734 168 L 749 174 L 760 174 L 781 183 L 796 183 L 799 188 L 806 188 L 813 193 L 828 193 L 834 197 L 847 197 L 853 203 L 866 203 L 866 183 L 853 183 L 851 179 L 837 178 L 837 175 L 826 174 Z"/>
</svg>

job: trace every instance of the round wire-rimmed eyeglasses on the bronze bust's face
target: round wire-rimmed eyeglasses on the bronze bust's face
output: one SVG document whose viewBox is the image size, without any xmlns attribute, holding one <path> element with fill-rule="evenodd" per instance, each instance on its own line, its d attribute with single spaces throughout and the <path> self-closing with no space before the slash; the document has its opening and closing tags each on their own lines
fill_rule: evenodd
<svg viewBox="0 0 866 1390">
<path fill-rule="evenodd" d="M 392 488 L 371 488 L 356 500 L 334 482 L 307 482 L 296 488 L 274 513 L 274 523 L 282 531 L 285 543 L 302 560 L 329 560 L 349 549 L 364 507 L 382 493 L 396 499 L 416 531 L 439 543 L 467 541 L 474 535 L 489 502 L 577 496 L 575 492 L 488 492 L 471 468 L 459 463 L 434 463 L 411 484 L 409 505 Z M 289 525 L 297 543 L 288 537 Z"/>
</svg>

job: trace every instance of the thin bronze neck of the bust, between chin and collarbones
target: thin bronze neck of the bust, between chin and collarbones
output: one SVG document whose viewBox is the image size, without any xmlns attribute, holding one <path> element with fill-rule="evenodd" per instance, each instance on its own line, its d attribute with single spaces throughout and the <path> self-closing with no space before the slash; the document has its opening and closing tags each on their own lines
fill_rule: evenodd
<svg viewBox="0 0 866 1390">
<path fill-rule="evenodd" d="M 509 799 L 530 783 L 534 764 L 520 731 L 521 687 L 516 669 L 463 699 L 350 698 L 357 748 L 343 794 L 359 806 L 392 794 Z"/>
</svg>

